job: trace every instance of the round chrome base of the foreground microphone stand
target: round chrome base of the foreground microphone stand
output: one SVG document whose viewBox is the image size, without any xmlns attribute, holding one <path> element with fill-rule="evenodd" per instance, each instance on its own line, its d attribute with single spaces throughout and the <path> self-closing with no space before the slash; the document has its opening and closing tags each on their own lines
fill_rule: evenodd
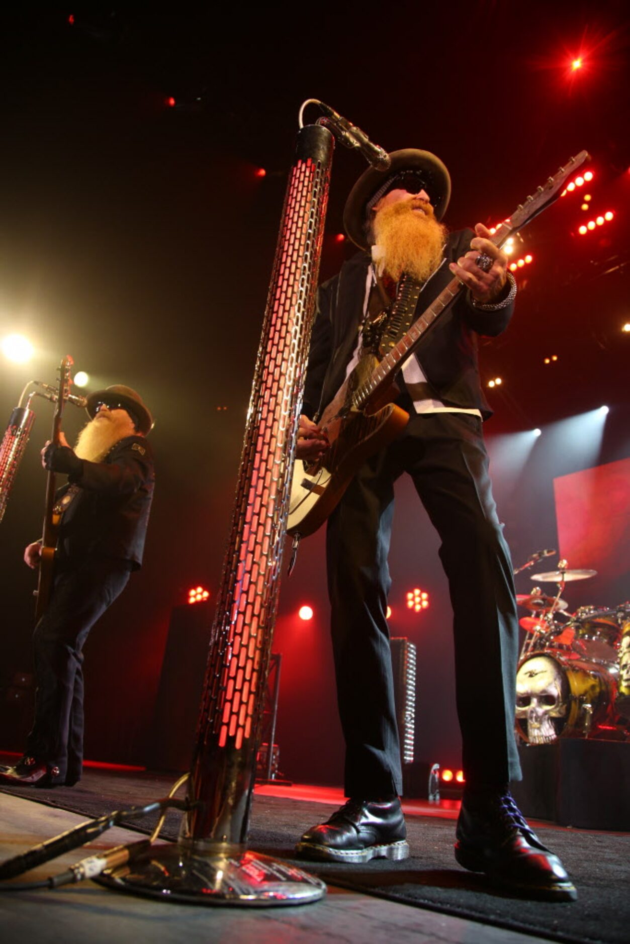
<svg viewBox="0 0 630 944">
<path fill-rule="evenodd" d="M 268 855 L 200 855 L 178 845 L 154 846 L 94 881 L 132 895 L 196 904 L 308 904 L 326 893 L 315 875 Z"/>
</svg>

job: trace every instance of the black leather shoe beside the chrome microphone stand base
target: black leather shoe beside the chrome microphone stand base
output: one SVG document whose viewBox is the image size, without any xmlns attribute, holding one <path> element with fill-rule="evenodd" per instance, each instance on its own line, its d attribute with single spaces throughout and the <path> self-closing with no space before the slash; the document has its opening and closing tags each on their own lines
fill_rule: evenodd
<svg viewBox="0 0 630 944">
<path fill-rule="evenodd" d="M 327 862 L 369 862 L 370 859 L 406 859 L 409 846 L 400 800 L 352 799 L 330 819 L 314 826 L 298 842 L 305 859 Z"/>
</svg>

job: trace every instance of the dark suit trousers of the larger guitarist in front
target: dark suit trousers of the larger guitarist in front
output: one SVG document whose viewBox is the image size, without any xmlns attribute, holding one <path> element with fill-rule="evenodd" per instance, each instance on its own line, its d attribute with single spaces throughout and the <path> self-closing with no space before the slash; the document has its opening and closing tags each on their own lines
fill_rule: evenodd
<svg viewBox="0 0 630 944">
<path fill-rule="evenodd" d="M 362 466 L 329 519 L 332 647 L 347 796 L 377 798 L 402 788 L 385 613 L 394 482 L 403 472 L 414 480 L 442 542 L 467 783 L 520 779 L 514 737 L 519 626 L 481 426 L 465 413 L 413 413 L 400 437 Z M 421 672 L 420 666 L 420 682 Z"/>
</svg>

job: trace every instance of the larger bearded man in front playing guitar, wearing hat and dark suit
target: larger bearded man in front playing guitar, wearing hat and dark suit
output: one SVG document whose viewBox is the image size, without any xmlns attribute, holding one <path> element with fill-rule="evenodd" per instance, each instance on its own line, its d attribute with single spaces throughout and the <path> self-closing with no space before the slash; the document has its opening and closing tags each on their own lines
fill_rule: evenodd
<svg viewBox="0 0 630 944">
<path fill-rule="evenodd" d="M 514 736 L 519 627 L 512 564 L 488 476 L 482 422 L 491 411 L 479 381 L 477 336 L 507 327 L 516 285 L 484 226 L 474 233 L 449 233 L 442 226 L 451 194 L 442 161 L 415 149 L 390 158 L 387 171 L 369 168 L 350 192 L 344 224 L 362 251 L 318 293 L 298 459 L 316 464 L 328 447 L 326 430 L 314 417 L 366 350 L 372 356 L 379 350 L 401 282 L 417 282 L 415 317 L 453 275 L 467 291 L 402 366 L 396 403 L 409 413 L 408 424 L 361 465 L 328 521 L 332 646 L 349 801 L 302 835 L 298 853 L 356 863 L 409 854 L 385 619 L 394 482 L 406 472 L 441 538 L 451 591 L 466 777 L 455 857 L 511 891 L 571 901 L 576 892 L 569 876 L 509 792 L 509 782 L 521 778 Z"/>
</svg>

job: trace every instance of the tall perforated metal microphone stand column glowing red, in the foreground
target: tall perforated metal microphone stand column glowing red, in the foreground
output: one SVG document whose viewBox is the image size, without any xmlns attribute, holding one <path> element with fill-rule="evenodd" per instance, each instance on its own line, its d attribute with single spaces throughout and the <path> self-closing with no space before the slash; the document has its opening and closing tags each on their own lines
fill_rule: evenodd
<svg viewBox="0 0 630 944">
<path fill-rule="evenodd" d="M 320 155 L 300 156 L 298 140 L 284 201 L 197 726 L 194 791 L 204 799 L 212 793 L 204 813 L 190 814 L 195 838 L 227 841 L 239 834 L 242 840 L 245 826 L 226 822 L 226 798 L 219 803 L 217 792 L 238 768 L 240 783 L 226 790 L 227 803 L 235 807 L 242 799 L 264 708 L 332 158 L 326 129 L 309 126 L 300 136 L 302 152 L 310 138 Z"/>
</svg>

